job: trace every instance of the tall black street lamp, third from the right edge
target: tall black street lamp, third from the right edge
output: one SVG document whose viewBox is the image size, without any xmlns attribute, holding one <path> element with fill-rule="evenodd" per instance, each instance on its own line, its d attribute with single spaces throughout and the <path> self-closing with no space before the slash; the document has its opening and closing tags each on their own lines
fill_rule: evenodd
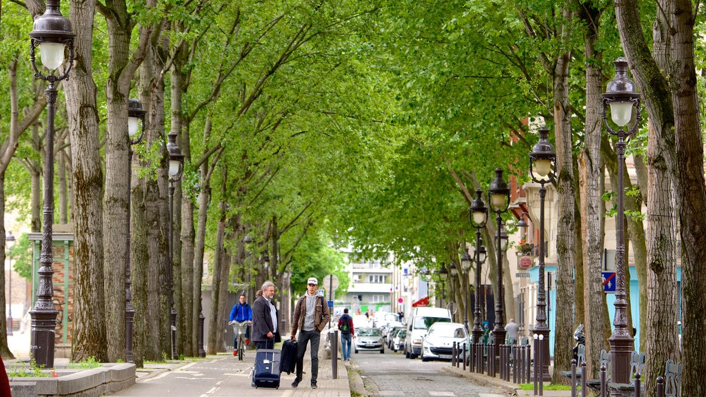
<svg viewBox="0 0 706 397">
<path fill-rule="evenodd" d="M 510 189 L 508 184 L 503 181 L 503 170 L 496 168 L 495 179 L 490 184 L 488 189 L 488 202 L 491 209 L 495 213 L 496 227 L 498 234 L 496 235 L 496 247 L 498 250 L 498 292 L 495 296 L 495 328 L 493 328 L 493 337 L 495 345 L 500 346 L 505 343 L 505 326 L 503 326 L 503 250 L 507 247 L 507 233 L 503 238 L 503 217 L 502 213 L 508 211 L 510 206 Z M 504 243 L 503 243 L 504 240 Z M 503 248 L 503 244 L 505 248 Z"/>
</svg>

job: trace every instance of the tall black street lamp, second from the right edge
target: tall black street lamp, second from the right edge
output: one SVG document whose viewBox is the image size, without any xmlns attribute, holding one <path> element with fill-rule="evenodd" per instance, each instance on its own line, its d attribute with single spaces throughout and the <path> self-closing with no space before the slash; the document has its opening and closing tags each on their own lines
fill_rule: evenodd
<svg viewBox="0 0 706 397">
<path fill-rule="evenodd" d="M 554 163 L 556 153 L 554 146 L 549 143 L 549 129 L 542 126 L 539 129 L 539 142 L 534 145 L 530 153 L 530 175 L 532 181 L 539 184 L 539 289 L 537 290 L 537 317 L 532 333 L 542 336 L 549 341 L 549 326 L 546 324 L 546 291 L 544 290 L 544 198 L 546 198 L 546 184 L 554 181 Z M 524 215 L 524 214 L 523 214 Z M 524 221 L 524 216 L 522 217 Z M 549 357 L 549 343 L 542 343 L 542 357 Z M 535 352 L 534 357 L 538 357 Z M 542 379 L 551 380 L 549 375 L 549 360 L 542 361 Z"/>
</svg>

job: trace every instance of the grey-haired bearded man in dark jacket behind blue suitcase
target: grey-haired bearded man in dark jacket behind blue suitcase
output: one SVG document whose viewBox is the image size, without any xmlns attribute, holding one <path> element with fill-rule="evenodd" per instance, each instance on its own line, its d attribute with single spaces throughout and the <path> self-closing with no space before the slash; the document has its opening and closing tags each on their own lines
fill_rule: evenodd
<svg viewBox="0 0 706 397">
<path fill-rule="evenodd" d="M 275 297 L 275 284 L 265 281 L 261 288 L 262 296 L 253 302 L 253 332 L 251 339 L 256 349 L 274 349 L 280 342 L 277 330 L 277 308 L 272 300 Z"/>
</svg>

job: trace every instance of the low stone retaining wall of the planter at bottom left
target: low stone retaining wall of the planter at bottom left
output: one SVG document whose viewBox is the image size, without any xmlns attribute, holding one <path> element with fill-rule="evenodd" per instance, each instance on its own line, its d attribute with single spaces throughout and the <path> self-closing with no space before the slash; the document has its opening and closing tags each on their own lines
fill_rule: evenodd
<svg viewBox="0 0 706 397">
<path fill-rule="evenodd" d="M 56 369 L 59 377 L 10 379 L 13 397 L 99 397 L 135 384 L 134 364 L 104 364 L 92 369 Z"/>
</svg>

